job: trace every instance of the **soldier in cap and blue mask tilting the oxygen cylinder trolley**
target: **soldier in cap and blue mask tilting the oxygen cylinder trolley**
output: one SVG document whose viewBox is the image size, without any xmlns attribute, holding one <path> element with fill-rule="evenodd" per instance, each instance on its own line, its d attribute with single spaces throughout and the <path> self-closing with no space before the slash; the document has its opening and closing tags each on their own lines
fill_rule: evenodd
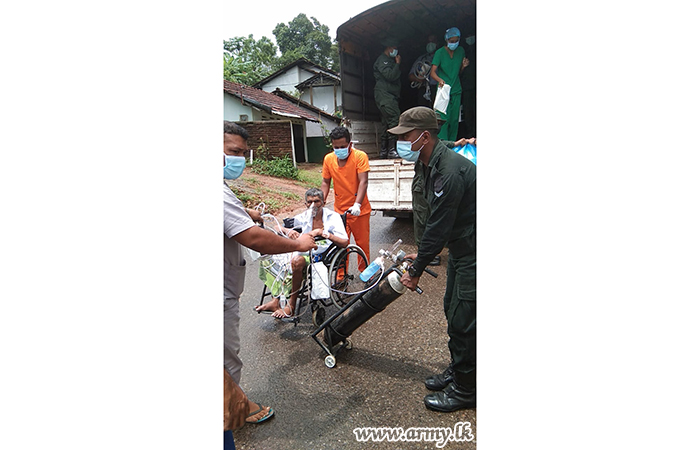
<svg viewBox="0 0 700 450">
<path fill-rule="evenodd" d="M 426 407 L 450 412 L 476 407 L 476 166 L 437 138 L 435 112 L 418 106 L 401 114 L 397 151 L 416 162 L 423 180 L 428 219 L 413 264 L 401 277 L 415 289 L 428 263 L 447 246 L 447 282 L 443 299 L 452 363 L 425 380 L 437 392 L 425 397 Z"/>
</svg>

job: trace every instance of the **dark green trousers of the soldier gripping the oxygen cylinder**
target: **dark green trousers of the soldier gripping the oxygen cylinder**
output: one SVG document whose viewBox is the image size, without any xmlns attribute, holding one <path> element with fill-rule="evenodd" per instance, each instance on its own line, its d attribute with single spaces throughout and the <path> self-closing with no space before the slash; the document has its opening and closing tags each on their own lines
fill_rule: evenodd
<svg viewBox="0 0 700 450">
<path fill-rule="evenodd" d="M 475 387 L 476 252 L 460 258 L 450 252 L 444 306 L 455 380 L 462 387 Z"/>
</svg>

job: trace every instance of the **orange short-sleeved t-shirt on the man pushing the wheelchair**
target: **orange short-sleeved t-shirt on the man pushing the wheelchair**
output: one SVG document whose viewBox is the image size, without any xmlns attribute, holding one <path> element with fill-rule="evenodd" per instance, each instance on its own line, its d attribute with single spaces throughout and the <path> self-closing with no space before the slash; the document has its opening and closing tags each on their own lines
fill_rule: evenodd
<svg viewBox="0 0 700 450">
<path fill-rule="evenodd" d="M 355 204 L 357 197 L 357 188 L 360 185 L 360 180 L 357 179 L 358 173 L 369 172 L 369 158 L 367 153 L 352 147 L 350 155 L 348 155 L 345 166 L 338 166 L 338 157 L 335 153 L 330 152 L 323 158 L 323 178 L 333 180 L 333 190 L 335 192 L 335 211 L 343 214 Z M 360 215 L 369 214 L 372 212 L 372 206 L 365 199 L 360 206 Z"/>
</svg>

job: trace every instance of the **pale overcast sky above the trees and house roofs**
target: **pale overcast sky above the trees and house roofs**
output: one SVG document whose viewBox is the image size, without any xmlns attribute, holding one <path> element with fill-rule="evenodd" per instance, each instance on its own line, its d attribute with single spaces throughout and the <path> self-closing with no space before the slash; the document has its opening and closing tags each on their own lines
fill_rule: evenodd
<svg viewBox="0 0 700 450">
<path fill-rule="evenodd" d="M 223 39 L 252 34 L 257 40 L 263 36 L 275 42 L 272 30 L 282 23 L 289 23 L 299 13 L 316 17 L 328 25 L 331 40 L 336 37 L 338 27 L 351 17 L 360 14 L 383 0 L 352 0 L 349 2 L 294 2 L 289 0 L 246 1 L 224 0 Z"/>
</svg>

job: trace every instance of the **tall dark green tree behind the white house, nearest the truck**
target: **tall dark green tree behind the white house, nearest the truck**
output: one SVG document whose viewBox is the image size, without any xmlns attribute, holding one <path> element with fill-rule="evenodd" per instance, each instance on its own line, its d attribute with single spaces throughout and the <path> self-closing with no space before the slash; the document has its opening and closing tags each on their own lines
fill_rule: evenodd
<svg viewBox="0 0 700 450">
<path fill-rule="evenodd" d="M 275 35 L 282 57 L 278 67 L 288 64 L 295 59 L 304 57 L 319 66 L 331 68 L 333 56 L 332 43 L 328 35 L 328 26 L 322 25 L 306 14 L 299 14 L 288 24 L 278 23 L 272 34 Z"/>
</svg>

